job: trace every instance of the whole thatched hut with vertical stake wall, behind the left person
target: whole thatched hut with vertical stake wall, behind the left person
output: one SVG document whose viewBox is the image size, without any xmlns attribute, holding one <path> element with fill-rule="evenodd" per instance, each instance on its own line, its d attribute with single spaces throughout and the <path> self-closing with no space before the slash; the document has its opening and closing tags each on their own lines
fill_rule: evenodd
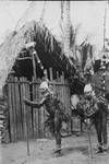
<svg viewBox="0 0 109 164">
<path fill-rule="evenodd" d="M 25 46 L 25 44 L 32 42 L 36 43 L 34 48 L 38 57 L 38 59 L 37 57 L 35 58 L 35 70 L 33 69 L 33 55 Z M 38 62 L 38 60 L 40 62 Z M 1 45 L 0 62 L 0 66 L 2 66 L 0 68 L 0 85 L 3 86 L 7 84 L 8 86 L 7 96 L 9 115 L 7 116 L 9 117 L 7 119 L 7 125 L 9 126 L 7 127 L 9 127 L 9 129 L 7 129 L 7 131 L 9 131 L 11 141 L 26 138 L 26 115 L 22 99 L 25 95 L 32 99 L 39 97 L 39 93 L 36 93 L 36 91 L 38 91 L 37 86 L 39 85 L 39 81 L 34 81 L 34 83 L 29 85 L 29 82 L 33 82 L 32 79 L 35 75 L 34 72 L 36 72 L 36 80 L 44 77 L 44 69 L 47 70 L 49 80 L 53 80 L 55 82 L 55 79 L 57 81 L 59 78 L 59 85 L 58 83 L 51 83 L 51 85 L 53 85 L 66 108 L 70 109 L 70 85 L 64 79 L 69 79 L 71 74 L 73 77 L 75 67 L 73 62 L 71 60 L 69 61 L 62 54 L 61 44 L 57 42 L 43 22 L 32 21 L 21 27 L 20 31 L 13 32 L 7 38 L 4 44 Z M 44 69 L 41 69 L 41 66 Z M 52 71 L 49 71 L 50 68 L 52 68 Z M 62 77 L 63 74 L 64 78 Z M 25 77 L 29 82 L 21 81 L 22 77 Z M 10 78 L 11 81 L 8 81 L 8 78 Z M 34 112 L 29 109 L 29 137 L 45 136 L 44 127 L 41 127 L 41 132 L 39 133 L 39 125 L 41 125 L 41 122 L 38 122 L 38 132 L 35 134 L 34 117 L 37 117 L 37 115 L 39 116 L 38 121 L 45 119 L 44 112 L 43 114 L 40 114 L 40 112 L 34 114 Z"/>
</svg>

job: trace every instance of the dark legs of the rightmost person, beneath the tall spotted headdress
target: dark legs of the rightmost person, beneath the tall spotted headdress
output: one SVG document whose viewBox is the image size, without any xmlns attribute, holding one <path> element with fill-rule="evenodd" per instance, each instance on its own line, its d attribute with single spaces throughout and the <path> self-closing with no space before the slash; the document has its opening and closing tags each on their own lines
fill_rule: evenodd
<svg viewBox="0 0 109 164">
<path fill-rule="evenodd" d="M 100 144 L 107 144 L 107 108 L 101 108 L 94 119 L 97 139 Z"/>
</svg>

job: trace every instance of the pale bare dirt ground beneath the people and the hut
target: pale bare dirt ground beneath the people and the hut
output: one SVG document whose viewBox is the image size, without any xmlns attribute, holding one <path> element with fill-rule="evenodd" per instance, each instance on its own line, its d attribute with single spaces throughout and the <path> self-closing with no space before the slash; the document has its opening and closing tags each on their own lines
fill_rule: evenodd
<svg viewBox="0 0 109 164">
<path fill-rule="evenodd" d="M 92 133 L 93 159 L 86 132 L 62 139 L 62 156 L 52 154 L 55 140 L 29 141 L 31 155 L 27 156 L 26 142 L 1 144 L 0 164 L 109 164 L 109 152 L 96 154 L 96 136 Z"/>
</svg>

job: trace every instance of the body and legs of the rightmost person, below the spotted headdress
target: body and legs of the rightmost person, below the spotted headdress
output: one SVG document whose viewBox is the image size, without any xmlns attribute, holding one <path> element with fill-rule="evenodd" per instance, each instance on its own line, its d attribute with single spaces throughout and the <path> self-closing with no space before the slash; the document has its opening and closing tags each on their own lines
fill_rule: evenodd
<svg viewBox="0 0 109 164">
<path fill-rule="evenodd" d="M 107 151 L 107 114 L 108 114 L 108 105 L 107 99 L 102 96 L 98 97 L 98 108 L 96 117 L 94 118 L 95 128 L 97 131 L 98 138 L 98 153 Z"/>
</svg>

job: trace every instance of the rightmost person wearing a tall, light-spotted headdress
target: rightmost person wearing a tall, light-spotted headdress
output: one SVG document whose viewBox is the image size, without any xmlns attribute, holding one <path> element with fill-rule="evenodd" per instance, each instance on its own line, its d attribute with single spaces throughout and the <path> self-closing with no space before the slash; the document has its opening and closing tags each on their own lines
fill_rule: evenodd
<svg viewBox="0 0 109 164">
<path fill-rule="evenodd" d="M 107 115 L 108 115 L 108 96 L 106 94 L 106 56 L 101 59 L 101 90 L 98 96 L 99 113 L 95 119 L 95 126 L 98 134 L 98 152 L 107 151 Z"/>
</svg>

